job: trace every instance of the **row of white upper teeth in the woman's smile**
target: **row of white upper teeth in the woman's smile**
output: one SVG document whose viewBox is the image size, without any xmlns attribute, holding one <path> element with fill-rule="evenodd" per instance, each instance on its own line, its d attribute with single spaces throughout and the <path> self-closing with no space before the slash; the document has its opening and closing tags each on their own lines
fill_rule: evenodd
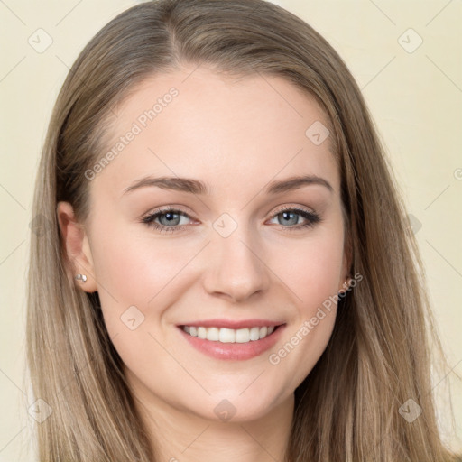
<svg viewBox="0 0 462 462">
<path fill-rule="evenodd" d="M 193 326 L 183 326 L 182 328 L 191 337 L 199 337 L 212 342 L 221 343 L 248 343 L 250 341 L 261 340 L 273 333 L 274 326 L 262 328 L 195 328 Z"/>
</svg>

